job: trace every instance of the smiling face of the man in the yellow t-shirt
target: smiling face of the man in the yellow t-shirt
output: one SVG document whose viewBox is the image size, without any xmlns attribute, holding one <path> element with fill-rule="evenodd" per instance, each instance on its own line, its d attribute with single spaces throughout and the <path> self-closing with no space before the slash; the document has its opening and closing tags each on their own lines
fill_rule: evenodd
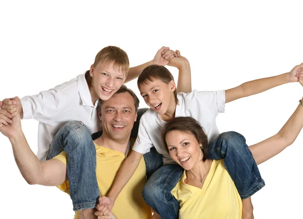
<svg viewBox="0 0 303 219">
<path fill-rule="evenodd" d="M 99 116 L 103 132 L 110 138 L 116 141 L 128 140 L 137 119 L 134 98 L 128 92 L 113 96 L 103 102 Z"/>
</svg>

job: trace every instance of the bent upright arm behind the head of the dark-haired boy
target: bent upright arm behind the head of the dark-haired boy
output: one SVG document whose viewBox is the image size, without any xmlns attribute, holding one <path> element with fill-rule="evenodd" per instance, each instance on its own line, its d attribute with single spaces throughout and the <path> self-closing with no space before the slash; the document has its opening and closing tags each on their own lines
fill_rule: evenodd
<svg viewBox="0 0 303 219">
<path fill-rule="evenodd" d="M 189 61 L 184 56 L 180 55 L 179 50 L 176 50 L 178 57 L 168 58 L 168 65 L 179 69 L 177 93 L 191 92 L 191 70 Z"/>
</svg>

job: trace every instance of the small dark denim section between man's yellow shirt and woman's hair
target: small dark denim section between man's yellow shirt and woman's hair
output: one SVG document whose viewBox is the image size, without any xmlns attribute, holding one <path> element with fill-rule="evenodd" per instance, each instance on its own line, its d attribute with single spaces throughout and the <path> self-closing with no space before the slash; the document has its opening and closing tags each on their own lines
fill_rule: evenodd
<svg viewBox="0 0 303 219">
<path fill-rule="evenodd" d="M 155 147 L 151 148 L 148 153 L 143 155 L 145 166 L 146 166 L 146 178 L 147 180 L 150 176 L 158 170 L 163 165 L 163 155 L 159 154 Z"/>
</svg>

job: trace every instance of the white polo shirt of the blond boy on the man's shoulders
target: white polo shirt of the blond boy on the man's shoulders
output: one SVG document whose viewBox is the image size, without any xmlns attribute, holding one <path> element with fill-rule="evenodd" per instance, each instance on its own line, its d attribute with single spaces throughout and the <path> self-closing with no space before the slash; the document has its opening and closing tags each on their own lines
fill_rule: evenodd
<svg viewBox="0 0 303 219">
<path fill-rule="evenodd" d="M 46 160 L 53 137 L 66 122 L 82 121 L 91 133 L 102 129 L 96 110 L 98 100 L 93 105 L 84 75 L 21 99 L 23 119 L 39 121 L 37 157 L 40 161 Z"/>
</svg>

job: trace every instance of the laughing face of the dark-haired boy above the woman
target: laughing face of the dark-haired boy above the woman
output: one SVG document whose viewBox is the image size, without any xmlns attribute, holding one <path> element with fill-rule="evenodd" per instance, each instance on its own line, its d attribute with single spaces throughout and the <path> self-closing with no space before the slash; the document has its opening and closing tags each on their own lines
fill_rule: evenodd
<svg viewBox="0 0 303 219">
<path fill-rule="evenodd" d="M 165 84 L 159 79 L 148 81 L 139 86 L 139 91 L 145 103 L 158 114 L 165 114 L 169 108 L 176 107 L 174 91 L 176 85 L 174 81 Z"/>
</svg>

